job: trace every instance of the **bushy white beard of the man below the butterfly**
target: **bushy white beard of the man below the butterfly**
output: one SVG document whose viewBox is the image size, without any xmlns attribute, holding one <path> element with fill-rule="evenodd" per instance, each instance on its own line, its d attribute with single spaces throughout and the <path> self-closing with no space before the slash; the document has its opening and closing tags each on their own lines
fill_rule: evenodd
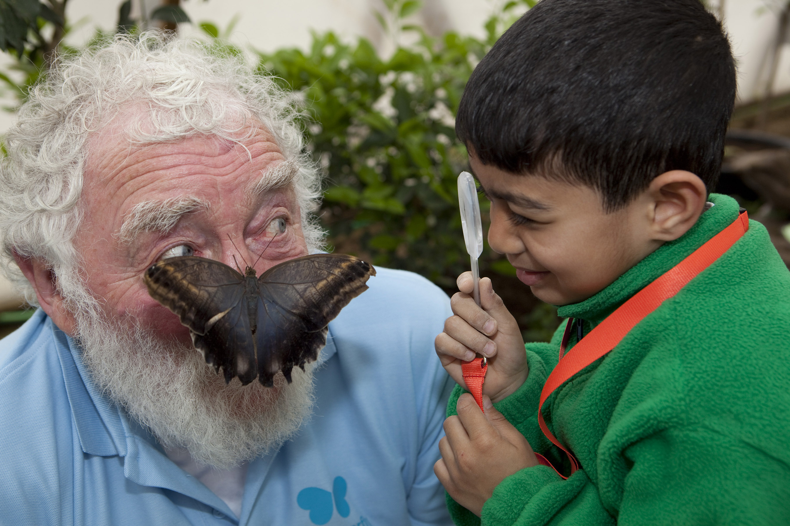
<svg viewBox="0 0 790 526">
<path fill-rule="evenodd" d="M 192 345 L 161 341 L 133 317 L 107 321 L 86 310 L 75 315 L 88 371 L 167 449 L 228 469 L 276 450 L 310 415 L 314 364 L 295 368 L 290 385 L 281 374 L 273 388 L 225 384 Z"/>
</svg>

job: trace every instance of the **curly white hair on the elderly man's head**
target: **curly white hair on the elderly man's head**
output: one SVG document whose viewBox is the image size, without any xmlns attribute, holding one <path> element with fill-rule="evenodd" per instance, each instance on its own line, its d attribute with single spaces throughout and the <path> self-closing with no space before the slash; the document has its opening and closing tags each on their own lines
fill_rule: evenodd
<svg viewBox="0 0 790 526">
<path fill-rule="evenodd" d="M 60 58 L 34 86 L 6 134 L 0 160 L 2 272 L 36 304 L 13 253 L 42 259 L 73 307 L 92 298 L 80 293 L 80 260 L 73 237 L 81 222 L 80 195 L 88 137 L 124 108 L 144 112 L 125 127 L 133 142 L 219 136 L 240 143 L 261 125 L 273 134 L 299 173 L 293 180 L 310 252 L 324 233 L 314 211 L 321 173 L 305 151 L 295 95 L 243 58 L 197 39 L 167 39 L 159 32 L 118 35 Z M 75 281 L 76 280 L 76 281 Z"/>
</svg>

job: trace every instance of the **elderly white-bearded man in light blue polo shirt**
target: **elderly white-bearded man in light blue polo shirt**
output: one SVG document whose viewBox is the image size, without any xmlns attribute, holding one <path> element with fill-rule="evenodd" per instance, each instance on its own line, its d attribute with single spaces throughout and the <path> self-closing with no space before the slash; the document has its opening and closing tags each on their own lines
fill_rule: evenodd
<svg viewBox="0 0 790 526">
<path fill-rule="evenodd" d="M 0 342 L 0 524 L 449 523 L 434 285 L 378 269 L 318 361 L 273 388 L 226 384 L 145 289 L 171 256 L 260 274 L 320 250 L 290 100 L 156 35 L 32 90 L 0 165 L 5 267 L 40 306 Z"/>
</svg>

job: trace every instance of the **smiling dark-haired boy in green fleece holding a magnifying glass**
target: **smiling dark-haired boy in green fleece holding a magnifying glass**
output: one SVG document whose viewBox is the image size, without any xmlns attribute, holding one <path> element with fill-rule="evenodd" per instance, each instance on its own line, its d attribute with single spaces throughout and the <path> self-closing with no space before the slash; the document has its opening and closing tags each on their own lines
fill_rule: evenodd
<svg viewBox="0 0 790 526">
<path fill-rule="evenodd" d="M 434 467 L 456 524 L 790 524 L 790 273 L 709 194 L 734 98 L 699 0 L 542 0 L 475 69 L 456 126 L 488 241 L 575 321 L 525 353 L 490 280 L 478 308 L 458 278 L 436 350 L 460 386 L 461 360 L 488 368 L 485 414 L 456 388 Z M 638 293 L 657 307 L 629 327 L 612 313 Z M 563 339 L 604 353 L 544 390 Z"/>
</svg>

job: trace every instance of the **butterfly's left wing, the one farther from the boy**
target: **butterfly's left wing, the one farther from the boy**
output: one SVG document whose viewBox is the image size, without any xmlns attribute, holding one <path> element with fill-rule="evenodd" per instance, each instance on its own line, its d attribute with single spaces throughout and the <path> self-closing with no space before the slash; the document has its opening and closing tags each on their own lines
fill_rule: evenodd
<svg viewBox="0 0 790 526">
<path fill-rule="evenodd" d="M 206 363 L 225 381 L 246 384 L 258 375 L 244 277 L 228 265 L 197 256 L 163 259 L 145 271 L 151 297 L 179 316 Z"/>
</svg>

